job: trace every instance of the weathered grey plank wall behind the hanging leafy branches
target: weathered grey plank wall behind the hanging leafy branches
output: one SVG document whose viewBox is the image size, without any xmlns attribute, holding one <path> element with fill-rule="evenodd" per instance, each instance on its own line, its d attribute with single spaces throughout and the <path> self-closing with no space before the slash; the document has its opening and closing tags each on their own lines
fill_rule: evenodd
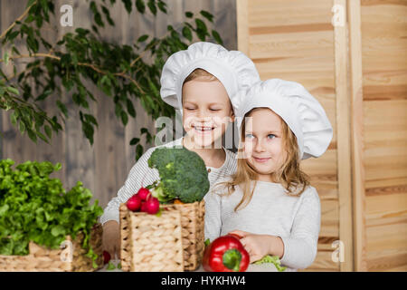
<svg viewBox="0 0 407 290">
<path fill-rule="evenodd" d="M 145 15 L 126 12 L 121 1 L 111 9 L 110 14 L 116 22 L 115 28 L 105 28 L 101 31 L 106 39 L 118 43 L 131 44 L 142 34 L 159 37 L 166 33 L 166 26 L 180 24 L 186 20 L 185 12 L 191 11 L 199 14 L 206 10 L 214 15 L 213 26 L 222 35 L 224 46 L 227 49 L 236 49 L 236 11 L 234 0 L 171 0 L 166 1 L 168 14 L 158 13 L 155 18 L 147 12 Z M 134 1 L 132 1 L 134 5 Z M 26 1 L 2 0 L 0 1 L 0 31 L 13 23 L 16 17 L 23 14 Z M 62 37 L 63 34 L 77 27 L 90 28 L 89 3 L 81 0 L 55 0 L 57 19 L 52 18 L 52 24 L 44 27 L 43 32 L 49 40 Z M 61 5 L 72 5 L 73 27 L 59 25 Z M 134 9 L 135 10 L 135 9 Z M 197 38 L 194 42 L 198 41 Z M 3 55 L 5 52 L 1 51 Z M 24 65 L 22 63 L 21 65 Z M 9 69 L 5 69 L 12 73 Z M 93 93 L 100 92 L 90 88 Z M 137 118 L 129 119 L 126 128 L 118 121 L 114 114 L 113 102 L 106 96 L 98 103 L 90 103 L 90 110 L 97 116 L 99 129 L 94 135 L 94 145 L 90 146 L 82 134 L 79 112 L 74 111 L 67 96 L 62 96 L 70 116 L 66 121 L 64 131 L 52 138 L 52 144 L 47 145 L 42 140 L 35 145 L 28 137 L 22 137 L 11 125 L 9 113 L 0 111 L 0 131 L 5 137 L 0 139 L 0 156 L 11 158 L 17 163 L 25 160 L 49 160 L 52 163 L 61 162 L 62 170 L 52 177 L 62 179 L 65 189 L 71 189 L 78 180 L 90 189 L 99 204 L 105 207 L 109 200 L 117 195 L 118 189 L 127 179 L 128 172 L 135 163 L 135 152 L 128 145 L 133 137 L 138 137 L 142 127 L 154 131 L 154 122 L 147 116 L 139 103 L 136 105 Z M 51 97 L 50 97 L 51 98 Z M 103 99 L 105 98 L 105 99 Z M 43 104 L 43 109 L 55 111 L 56 99 L 52 98 Z M 142 142 L 144 142 L 144 138 Z M 147 146 L 148 148 L 149 146 Z"/>
</svg>

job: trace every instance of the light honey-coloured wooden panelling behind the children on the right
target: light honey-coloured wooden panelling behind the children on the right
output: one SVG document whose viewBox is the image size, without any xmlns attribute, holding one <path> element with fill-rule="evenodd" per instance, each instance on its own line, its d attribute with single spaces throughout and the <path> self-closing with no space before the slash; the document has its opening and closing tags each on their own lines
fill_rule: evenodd
<svg viewBox="0 0 407 290">
<path fill-rule="evenodd" d="M 303 163 L 322 208 L 307 271 L 406 271 L 407 1 L 237 0 L 237 21 L 261 79 L 301 82 L 334 127 Z"/>
</svg>

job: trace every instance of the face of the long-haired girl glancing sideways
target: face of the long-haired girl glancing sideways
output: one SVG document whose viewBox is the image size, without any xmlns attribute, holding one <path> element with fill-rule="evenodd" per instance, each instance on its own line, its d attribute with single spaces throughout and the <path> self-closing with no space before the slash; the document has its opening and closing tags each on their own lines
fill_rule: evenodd
<svg viewBox="0 0 407 290">
<path fill-rule="evenodd" d="M 275 182 L 272 173 L 281 167 L 287 155 L 283 149 L 282 120 L 274 111 L 266 108 L 252 111 L 247 117 L 249 118 L 245 118 L 243 142 L 244 157 L 258 173 L 259 180 Z"/>
</svg>

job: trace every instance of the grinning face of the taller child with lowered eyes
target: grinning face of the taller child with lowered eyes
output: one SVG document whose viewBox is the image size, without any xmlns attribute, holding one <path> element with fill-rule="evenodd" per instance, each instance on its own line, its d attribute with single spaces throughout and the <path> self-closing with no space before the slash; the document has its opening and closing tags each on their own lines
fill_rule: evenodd
<svg viewBox="0 0 407 290">
<path fill-rule="evenodd" d="M 234 121 L 222 82 L 195 79 L 183 86 L 183 126 L 195 148 L 212 148 Z"/>
</svg>

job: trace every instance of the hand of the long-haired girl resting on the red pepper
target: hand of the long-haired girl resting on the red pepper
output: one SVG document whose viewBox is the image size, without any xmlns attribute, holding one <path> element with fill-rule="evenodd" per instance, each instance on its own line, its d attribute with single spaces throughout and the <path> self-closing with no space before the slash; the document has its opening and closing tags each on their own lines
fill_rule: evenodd
<svg viewBox="0 0 407 290">
<path fill-rule="evenodd" d="M 248 251 L 251 256 L 251 263 L 260 260 L 266 255 L 279 255 L 279 253 L 273 253 L 273 246 L 275 245 L 275 240 L 279 237 L 274 237 L 270 235 L 256 235 L 251 234 L 242 230 L 233 230 L 229 234 L 234 234 L 241 237 L 241 244 Z M 282 241 L 281 241 L 282 243 Z"/>
</svg>

